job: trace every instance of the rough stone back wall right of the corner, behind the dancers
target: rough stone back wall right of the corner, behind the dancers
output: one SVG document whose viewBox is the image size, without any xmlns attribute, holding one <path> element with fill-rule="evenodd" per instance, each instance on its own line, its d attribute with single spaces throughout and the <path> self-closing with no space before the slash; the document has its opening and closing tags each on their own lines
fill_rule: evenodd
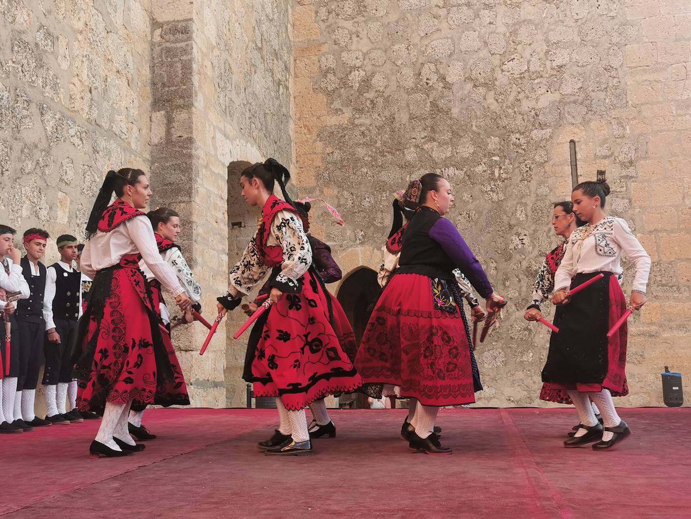
<svg viewBox="0 0 691 519">
<path fill-rule="evenodd" d="M 341 210 L 345 227 L 315 233 L 343 271 L 377 268 L 395 190 L 444 174 L 457 201 L 449 217 L 511 300 L 477 347 L 478 403 L 538 405 L 549 336 L 522 315 L 558 243 L 551 203 L 570 197 L 574 139 L 580 179 L 607 170 L 609 212 L 654 262 L 621 403 L 661 405 L 663 366 L 691 372 L 689 2 L 294 4 L 296 177 Z M 627 293 L 632 277 L 628 268 Z"/>
</svg>

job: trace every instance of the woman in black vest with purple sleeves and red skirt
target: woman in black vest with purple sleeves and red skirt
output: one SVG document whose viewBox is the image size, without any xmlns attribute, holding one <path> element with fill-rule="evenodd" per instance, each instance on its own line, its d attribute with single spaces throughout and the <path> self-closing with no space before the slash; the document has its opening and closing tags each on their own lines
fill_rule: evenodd
<svg viewBox="0 0 691 519">
<path fill-rule="evenodd" d="M 504 299 L 492 289 L 475 255 L 443 215 L 453 203 L 451 186 L 426 174 L 408 187 L 406 200 L 422 202 L 403 235 L 399 266 L 372 312 L 355 363 L 372 390 L 397 385 L 401 397 L 417 399 L 410 448 L 451 454 L 433 432 L 439 407 L 475 401 L 468 329 L 453 276 L 459 268 L 487 309 Z M 369 391 L 368 391 L 369 392 Z"/>
</svg>

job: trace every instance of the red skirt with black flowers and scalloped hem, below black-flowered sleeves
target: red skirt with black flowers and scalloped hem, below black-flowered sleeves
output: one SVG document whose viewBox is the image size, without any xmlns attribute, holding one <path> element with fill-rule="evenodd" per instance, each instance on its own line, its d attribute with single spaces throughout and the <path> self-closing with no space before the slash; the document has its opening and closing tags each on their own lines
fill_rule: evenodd
<svg viewBox="0 0 691 519">
<path fill-rule="evenodd" d="M 243 374 L 256 397 L 281 397 L 288 410 L 362 385 L 348 357 L 354 337 L 340 305 L 332 306 L 332 326 L 330 303 L 336 301 L 312 269 L 300 285 L 298 293 L 284 293 L 254 324 Z"/>
</svg>

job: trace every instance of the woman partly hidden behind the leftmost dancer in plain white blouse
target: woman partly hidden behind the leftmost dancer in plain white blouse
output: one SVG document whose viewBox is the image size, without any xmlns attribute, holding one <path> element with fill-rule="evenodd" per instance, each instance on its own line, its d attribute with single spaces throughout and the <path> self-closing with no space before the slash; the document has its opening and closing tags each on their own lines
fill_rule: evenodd
<svg viewBox="0 0 691 519">
<path fill-rule="evenodd" d="M 182 256 L 182 249 L 173 241 L 180 234 L 180 215 L 178 215 L 178 213 L 172 209 L 162 207 L 149 211 L 146 213 L 146 216 L 149 217 L 149 220 L 151 221 L 151 227 L 154 229 L 153 235 L 156 239 L 158 252 L 161 254 L 163 261 L 167 262 L 167 264 L 173 268 L 173 271 L 178 276 L 178 282 L 180 282 L 180 285 L 184 288 L 184 291 L 193 301 L 192 308 L 196 309 L 196 311 L 201 311 L 199 301 L 202 298 L 202 289 L 194 279 L 189 265 Z M 151 268 L 146 266 L 146 262 L 144 262 L 144 260 L 139 262 L 139 268 L 142 269 L 142 272 L 146 277 L 146 281 L 148 281 L 151 285 L 153 306 L 156 309 L 158 318 L 170 332 L 170 312 L 168 311 L 168 307 L 166 306 L 166 302 L 163 298 L 161 283 L 158 279 L 156 279 L 156 276 L 151 271 Z M 187 312 L 184 314 L 183 319 L 185 322 L 192 322 L 193 320 L 191 313 L 188 314 Z M 171 366 L 173 367 L 173 375 L 175 377 L 173 384 L 175 384 L 177 388 L 184 388 L 184 376 L 182 375 L 182 368 L 180 367 L 178 356 L 176 355 L 175 348 L 171 342 L 170 334 L 162 334 L 162 338 L 171 361 Z M 187 394 L 187 392 L 180 392 L 179 394 Z M 128 424 L 130 434 L 141 441 L 155 439 L 156 435 L 152 435 L 151 432 L 149 432 L 149 430 L 142 425 L 143 416 L 144 408 L 141 406 L 132 406 Z"/>
</svg>

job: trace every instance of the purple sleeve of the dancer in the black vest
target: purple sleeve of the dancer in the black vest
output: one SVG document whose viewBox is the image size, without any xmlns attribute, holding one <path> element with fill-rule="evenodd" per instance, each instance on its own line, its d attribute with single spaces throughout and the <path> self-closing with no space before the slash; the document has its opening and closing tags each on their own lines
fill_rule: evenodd
<svg viewBox="0 0 691 519">
<path fill-rule="evenodd" d="M 454 266 L 460 268 L 460 271 L 466 275 L 477 293 L 484 299 L 489 298 L 493 292 L 492 285 L 482 265 L 451 221 L 439 218 L 430 229 L 429 235 L 442 246 L 444 252 L 453 260 Z"/>
</svg>

